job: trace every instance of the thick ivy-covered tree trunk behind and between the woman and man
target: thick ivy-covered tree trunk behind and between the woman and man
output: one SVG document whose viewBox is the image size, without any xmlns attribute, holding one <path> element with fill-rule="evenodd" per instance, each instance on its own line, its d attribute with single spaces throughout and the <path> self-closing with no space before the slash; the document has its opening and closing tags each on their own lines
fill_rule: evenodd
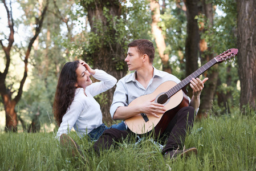
<svg viewBox="0 0 256 171">
<path fill-rule="evenodd" d="M 92 60 L 93 67 L 104 70 L 117 80 L 127 74 L 127 65 L 124 62 L 125 52 L 124 38 L 120 38 L 116 28 L 121 15 L 121 5 L 118 0 L 82 1 L 81 5 L 88 13 L 91 32 L 97 36 L 97 40 L 90 39 L 91 51 L 84 54 L 84 60 Z M 97 43 L 96 43 L 97 42 Z M 90 64 L 90 63 L 89 63 Z M 109 108 L 112 103 L 115 88 L 101 93 L 96 100 L 100 103 L 103 120 L 112 123 Z"/>
</svg>

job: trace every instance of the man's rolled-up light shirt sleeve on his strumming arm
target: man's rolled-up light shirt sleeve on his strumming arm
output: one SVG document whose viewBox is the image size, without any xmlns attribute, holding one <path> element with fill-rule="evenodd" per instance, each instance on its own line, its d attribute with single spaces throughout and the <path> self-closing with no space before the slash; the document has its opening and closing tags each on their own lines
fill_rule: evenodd
<svg viewBox="0 0 256 171">
<path fill-rule="evenodd" d="M 113 118 L 116 109 L 120 106 L 127 106 L 128 105 L 128 92 L 127 88 L 124 86 L 123 80 L 119 80 L 116 84 L 116 90 L 113 95 L 113 101 L 110 107 L 110 114 L 111 117 Z"/>
</svg>

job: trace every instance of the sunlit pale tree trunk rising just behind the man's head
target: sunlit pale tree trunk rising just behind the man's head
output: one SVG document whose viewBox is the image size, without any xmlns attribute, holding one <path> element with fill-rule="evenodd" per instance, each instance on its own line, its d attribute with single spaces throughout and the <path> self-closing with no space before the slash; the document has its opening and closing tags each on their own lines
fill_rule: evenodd
<svg viewBox="0 0 256 171">
<path fill-rule="evenodd" d="M 162 71 L 166 71 L 168 73 L 172 73 L 172 70 L 170 68 L 169 64 L 169 54 L 165 54 L 165 38 L 164 35 L 162 35 L 162 29 L 158 26 L 158 23 L 160 22 L 160 5 L 159 2 L 156 0 L 151 0 L 150 8 L 152 11 L 152 34 L 155 37 L 156 46 L 159 50 L 159 55 L 162 60 Z"/>
</svg>

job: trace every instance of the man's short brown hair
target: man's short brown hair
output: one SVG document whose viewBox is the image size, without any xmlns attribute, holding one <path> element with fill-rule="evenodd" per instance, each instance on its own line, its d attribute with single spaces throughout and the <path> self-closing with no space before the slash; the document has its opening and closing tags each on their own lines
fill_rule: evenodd
<svg viewBox="0 0 256 171">
<path fill-rule="evenodd" d="M 128 47 L 136 47 L 137 52 L 140 55 L 147 54 L 149 57 L 149 62 L 153 63 L 153 60 L 155 58 L 155 47 L 153 46 L 153 43 L 147 39 L 138 39 L 133 40 L 131 43 L 128 44 Z"/>
</svg>

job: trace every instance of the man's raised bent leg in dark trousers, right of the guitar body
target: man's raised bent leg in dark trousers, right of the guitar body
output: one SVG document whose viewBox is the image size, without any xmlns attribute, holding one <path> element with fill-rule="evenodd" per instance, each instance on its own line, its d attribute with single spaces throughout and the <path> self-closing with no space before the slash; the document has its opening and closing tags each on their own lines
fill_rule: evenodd
<svg viewBox="0 0 256 171">
<path fill-rule="evenodd" d="M 193 107 L 183 107 L 177 112 L 176 116 L 174 117 L 174 119 L 176 119 L 174 127 L 173 121 L 171 121 L 170 124 L 172 125 L 168 125 L 168 128 L 171 130 L 168 130 L 167 128 L 165 131 L 165 134 L 169 133 L 169 137 L 166 146 L 164 149 L 162 149 L 163 153 L 182 148 L 186 131 L 190 131 L 190 129 L 193 128 L 194 117 L 195 113 Z"/>
</svg>

